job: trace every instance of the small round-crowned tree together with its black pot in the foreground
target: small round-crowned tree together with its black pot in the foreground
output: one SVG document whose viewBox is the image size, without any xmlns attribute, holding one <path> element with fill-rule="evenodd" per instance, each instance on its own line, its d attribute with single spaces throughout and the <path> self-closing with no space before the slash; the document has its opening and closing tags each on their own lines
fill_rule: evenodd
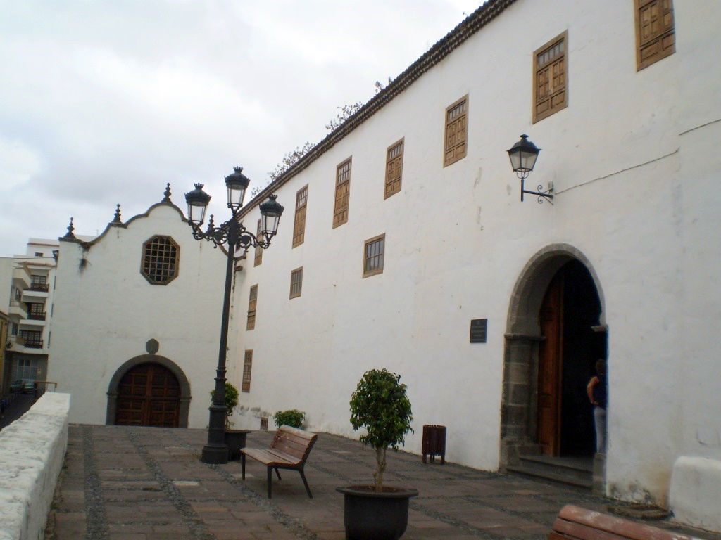
<svg viewBox="0 0 721 540">
<path fill-rule="evenodd" d="M 386 451 L 398 450 L 413 420 L 406 385 L 386 369 L 363 374 L 350 397 L 350 423 L 366 429 L 361 442 L 376 451 L 373 485 L 336 487 L 345 497 L 343 521 L 348 540 L 397 540 L 408 525 L 408 501 L 418 490 L 383 485 Z"/>
</svg>

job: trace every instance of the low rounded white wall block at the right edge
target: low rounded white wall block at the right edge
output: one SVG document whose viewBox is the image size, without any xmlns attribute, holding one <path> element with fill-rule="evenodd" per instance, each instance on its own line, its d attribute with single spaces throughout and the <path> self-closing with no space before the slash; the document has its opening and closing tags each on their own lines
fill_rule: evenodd
<svg viewBox="0 0 721 540">
<path fill-rule="evenodd" d="M 676 459 L 668 505 L 680 523 L 721 531 L 721 461 L 696 456 Z"/>
</svg>

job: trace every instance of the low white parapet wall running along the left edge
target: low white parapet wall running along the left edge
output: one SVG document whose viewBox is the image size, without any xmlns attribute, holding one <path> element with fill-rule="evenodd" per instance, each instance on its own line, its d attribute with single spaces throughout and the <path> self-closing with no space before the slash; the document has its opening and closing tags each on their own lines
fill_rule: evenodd
<svg viewBox="0 0 721 540">
<path fill-rule="evenodd" d="M 0 540 L 43 539 L 68 446 L 70 395 L 45 392 L 0 431 Z"/>
</svg>

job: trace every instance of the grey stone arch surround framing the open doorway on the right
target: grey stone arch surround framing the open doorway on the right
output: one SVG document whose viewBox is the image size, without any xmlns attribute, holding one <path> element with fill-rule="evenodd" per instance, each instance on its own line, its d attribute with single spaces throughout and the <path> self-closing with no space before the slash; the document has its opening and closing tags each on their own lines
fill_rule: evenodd
<svg viewBox="0 0 721 540">
<path fill-rule="evenodd" d="M 565 243 L 551 244 L 537 251 L 521 270 L 508 307 L 500 428 L 502 467 L 516 463 L 519 450 L 534 443 L 541 341 L 539 311 L 554 275 L 574 260 L 585 266 L 596 287 L 601 313 L 598 328 L 594 329 L 607 331 L 603 289 L 588 258 L 578 248 Z"/>
</svg>

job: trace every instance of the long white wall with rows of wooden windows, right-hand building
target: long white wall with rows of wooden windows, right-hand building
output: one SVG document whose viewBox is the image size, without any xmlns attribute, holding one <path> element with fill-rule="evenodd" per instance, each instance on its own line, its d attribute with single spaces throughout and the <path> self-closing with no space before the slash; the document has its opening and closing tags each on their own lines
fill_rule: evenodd
<svg viewBox="0 0 721 540">
<path fill-rule="evenodd" d="M 676 456 L 721 459 L 721 4 L 674 6 L 677 52 L 637 72 L 632 2 L 518 1 L 282 186 L 280 233 L 236 287 L 238 386 L 254 351 L 239 426 L 299 408 L 308 428 L 352 435 L 350 393 L 386 367 L 408 385 L 407 449 L 441 423 L 449 460 L 497 469 L 510 295 L 534 253 L 566 243 L 593 266 L 609 327 L 609 494 L 663 504 Z M 531 55 L 564 31 L 569 105 L 533 125 Z M 468 155 L 443 168 L 444 110 L 465 94 Z M 552 181 L 554 206 L 518 200 L 505 150 L 523 132 L 543 149 L 528 186 Z M 384 200 L 386 148 L 402 137 L 402 192 Z M 333 229 L 349 156 L 348 223 Z M 306 239 L 291 249 L 306 184 Z M 384 272 L 362 279 L 363 240 L 380 233 Z M 303 294 L 288 300 L 298 266 Z M 473 318 L 488 318 L 487 343 L 468 343 Z"/>
</svg>

